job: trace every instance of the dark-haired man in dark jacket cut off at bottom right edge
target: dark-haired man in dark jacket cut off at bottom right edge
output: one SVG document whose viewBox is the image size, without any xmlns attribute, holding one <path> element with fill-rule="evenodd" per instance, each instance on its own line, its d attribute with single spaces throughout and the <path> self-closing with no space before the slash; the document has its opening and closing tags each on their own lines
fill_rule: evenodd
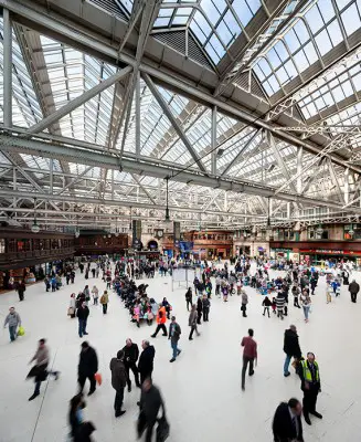
<svg viewBox="0 0 361 442">
<path fill-rule="evenodd" d="M 304 442 L 301 412 L 302 406 L 295 398 L 277 407 L 272 425 L 275 442 Z"/>
</svg>

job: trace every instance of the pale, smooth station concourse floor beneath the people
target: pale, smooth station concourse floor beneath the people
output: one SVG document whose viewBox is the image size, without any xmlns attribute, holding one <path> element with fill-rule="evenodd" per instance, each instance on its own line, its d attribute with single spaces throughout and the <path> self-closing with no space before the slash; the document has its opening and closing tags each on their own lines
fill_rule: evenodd
<svg viewBox="0 0 361 442">
<path fill-rule="evenodd" d="M 360 277 L 359 282 L 360 282 Z M 94 280 L 88 280 L 92 284 Z M 99 288 L 104 283 L 96 281 Z M 314 312 L 305 324 L 301 311 L 289 306 L 290 315 L 284 322 L 262 316 L 262 296 L 247 288 L 248 317 L 242 318 L 240 298 L 233 296 L 227 304 L 212 301 L 210 323 L 201 326 L 202 336 L 188 340 L 188 313 L 184 287 L 171 292 L 170 278 L 157 276 L 148 281 L 149 295 L 156 299 L 167 296 L 183 334 L 183 352 L 176 364 L 169 364 L 169 341 L 158 335 L 151 339 L 156 346 L 153 379 L 163 394 L 171 424 L 170 442 L 266 442 L 272 441 L 273 413 L 282 400 L 291 396 L 301 399 L 299 379 L 283 377 L 283 334 L 290 323 L 297 325 L 304 352 L 311 350 L 320 365 L 322 393 L 318 409 L 323 420 L 312 420 L 305 428 L 305 441 L 358 441 L 361 433 L 361 390 L 359 388 L 361 356 L 360 304 L 351 304 L 342 287 L 341 297 L 326 305 L 325 278 L 320 280 L 312 297 Z M 74 286 L 56 293 L 45 293 L 43 284 L 33 285 L 19 303 L 14 293 L 0 296 L 0 318 L 9 306 L 20 313 L 25 336 L 9 344 L 8 330 L 0 335 L 0 440 L 3 442 L 65 441 L 67 433 L 67 403 L 76 391 L 76 369 L 81 339 L 77 320 L 66 316 L 72 290 L 85 285 L 77 275 Z M 240 340 L 248 327 L 255 329 L 259 362 L 255 376 L 246 380 L 241 391 Z M 109 442 L 136 440 L 136 402 L 139 390 L 125 394 L 127 413 L 114 418 L 114 390 L 109 379 L 109 360 L 125 344 L 127 337 L 140 345 L 149 338 L 153 327 L 140 329 L 129 323 L 129 315 L 116 295 L 110 296 L 109 311 L 103 316 L 100 307 L 91 307 L 88 341 L 99 357 L 104 383 L 87 400 L 86 419 L 94 421 L 94 440 Z M 46 337 L 54 368 L 61 370 L 60 380 L 43 382 L 41 396 L 29 402 L 33 383 L 25 381 L 28 362 L 39 338 Z"/>
</svg>

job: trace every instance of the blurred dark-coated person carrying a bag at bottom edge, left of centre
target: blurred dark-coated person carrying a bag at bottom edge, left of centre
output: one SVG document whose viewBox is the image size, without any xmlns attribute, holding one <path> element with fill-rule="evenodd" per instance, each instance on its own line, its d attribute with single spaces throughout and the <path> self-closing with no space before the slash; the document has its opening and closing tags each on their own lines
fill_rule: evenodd
<svg viewBox="0 0 361 442">
<path fill-rule="evenodd" d="M 152 385 L 150 378 L 147 378 L 141 386 L 139 407 L 139 422 L 142 421 L 142 429 L 139 429 L 138 422 L 138 436 L 140 438 L 142 431 L 145 430 L 145 428 L 147 428 L 146 442 L 151 442 L 152 430 L 157 422 L 160 407 L 162 407 L 164 414 L 164 404 L 160 396 L 160 391 L 156 386 Z"/>
</svg>

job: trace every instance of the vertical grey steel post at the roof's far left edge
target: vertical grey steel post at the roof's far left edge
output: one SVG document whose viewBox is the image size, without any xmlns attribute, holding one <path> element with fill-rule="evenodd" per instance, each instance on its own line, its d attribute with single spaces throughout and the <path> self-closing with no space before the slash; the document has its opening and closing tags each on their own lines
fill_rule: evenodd
<svg viewBox="0 0 361 442">
<path fill-rule="evenodd" d="M 12 126 L 12 29 L 9 9 L 3 9 L 3 124 Z"/>
</svg>

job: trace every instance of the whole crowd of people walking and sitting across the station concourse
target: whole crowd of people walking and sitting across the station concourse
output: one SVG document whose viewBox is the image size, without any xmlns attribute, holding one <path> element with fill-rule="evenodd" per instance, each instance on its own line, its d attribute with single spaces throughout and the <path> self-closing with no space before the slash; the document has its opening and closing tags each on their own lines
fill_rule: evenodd
<svg viewBox="0 0 361 442">
<path fill-rule="evenodd" d="M 360 286 L 355 280 L 349 282 L 351 272 L 344 265 L 339 265 L 330 272 L 323 272 L 323 275 L 319 269 L 305 263 L 283 262 L 282 265 L 279 263 L 277 265 L 277 269 L 283 272 L 282 275 L 274 278 L 269 275 L 272 265 L 274 264 L 266 260 L 254 261 L 247 256 L 240 256 L 232 269 L 226 262 L 223 265 L 216 262 L 209 264 L 206 261 L 202 263 L 199 276 L 193 281 L 193 287 L 188 287 L 185 292 L 185 308 L 189 312 L 188 327 L 190 328 L 188 339 L 193 340 L 194 333 L 197 336 L 201 335 L 199 326 L 210 320 L 213 298 L 222 297 L 223 302 L 227 302 L 229 296 L 240 296 L 240 308 L 242 317 L 245 318 L 247 317 L 249 299 L 252 303 L 259 301 L 263 316 L 268 318 L 274 316 L 280 320 L 289 315 L 288 304 L 290 298 L 294 308 L 297 312 L 301 309 L 305 323 L 308 323 L 312 296 L 319 294 L 319 292 L 316 293 L 319 278 L 325 276 L 327 303 L 331 302 L 330 298 L 340 295 L 341 285 L 348 286 L 351 302 L 357 302 Z M 147 293 L 149 284 L 137 284 L 137 280 L 144 276 L 147 278 L 155 277 L 155 272 L 159 272 L 159 275 L 164 277 L 167 274 L 171 274 L 174 266 L 174 263 L 164 262 L 157 264 L 150 262 L 136 263 L 127 260 L 110 262 L 108 257 L 95 262 L 81 262 L 78 269 L 81 275 L 84 274 L 86 280 L 84 290 L 77 294 L 71 294 L 67 311 L 71 318 L 77 318 L 78 336 L 83 338 L 88 335 L 87 320 L 92 299 L 93 306 L 97 307 L 100 304 L 103 314 L 107 315 L 110 295 L 113 298 L 119 298 L 129 313 L 129 320 L 138 328 L 142 326 L 142 323 L 149 327 L 156 326 L 150 335 L 152 339 L 156 339 L 159 332 L 162 332 L 162 336 L 168 338 L 171 347 L 170 362 L 177 361 L 182 352 L 179 346 L 182 325 L 177 322 L 172 305 L 167 297 L 162 297 L 159 302 L 150 297 Z M 81 277 L 81 275 L 76 276 L 75 267 L 68 266 L 62 275 L 57 273 L 45 277 L 45 290 L 46 292 L 50 290 L 55 292 L 63 286 L 63 277 L 65 277 L 65 286 L 67 286 L 74 283 L 75 276 Z M 96 280 L 95 284 L 88 284 L 89 277 Z M 102 284 L 98 281 L 99 277 L 106 285 L 105 290 L 98 288 Z M 247 286 L 256 290 L 256 293 L 261 296 L 249 296 L 252 292 L 248 291 Z M 22 291 L 20 301 L 23 299 L 24 292 L 25 290 Z M 21 327 L 20 315 L 14 307 L 10 308 L 4 326 L 9 326 L 10 340 L 14 341 Z M 254 376 L 257 365 L 258 350 L 254 335 L 254 329 L 248 328 L 247 336 L 241 340 L 243 349 L 242 390 L 245 390 L 247 371 L 249 377 Z M 310 415 L 322 419 L 316 408 L 318 393 L 321 391 L 320 370 L 314 352 L 302 354 L 295 325 L 290 325 L 285 330 L 284 352 L 283 375 L 286 378 L 289 377 L 289 366 L 294 367 L 295 373 L 300 379 L 304 397 L 302 403 L 298 399 L 291 398 L 288 402 L 282 402 L 277 407 L 273 420 L 274 440 L 276 442 L 302 441 L 301 414 L 309 425 L 311 424 Z M 115 390 L 115 417 L 120 418 L 126 413 L 126 410 L 124 410 L 124 392 L 126 388 L 129 392 L 131 391 L 131 372 L 136 387 L 140 389 L 139 401 L 137 402 L 139 406 L 138 436 L 146 432 L 147 442 L 151 441 L 153 428 L 157 423 L 157 434 L 163 434 L 164 438 L 169 434 L 164 402 L 159 389 L 152 383 L 155 355 L 156 348 L 148 339 L 141 341 L 141 351 L 139 351 L 138 345 L 131 338 L 127 338 L 125 346 L 109 361 L 112 387 Z M 30 362 L 34 362 L 28 375 L 28 378 L 33 378 L 35 383 L 34 392 L 29 398 L 32 401 L 40 394 L 41 383 L 49 376 L 53 376 L 55 380 L 59 379 L 60 372 L 49 368 L 50 349 L 45 338 L 39 340 L 36 352 Z M 81 344 L 78 361 L 78 391 L 71 399 L 68 413 L 71 436 L 76 442 L 91 440 L 92 433 L 96 430 L 93 422 L 85 420 L 83 412 L 86 407 L 83 391 L 87 380 L 89 381 L 88 396 L 92 396 L 96 392 L 97 382 L 102 382 L 102 377 L 98 373 L 97 351 L 88 341 L 84 340 Z M 160 410 L 162 410 L 161 415 L 159 415 Z"/>
</svg>

